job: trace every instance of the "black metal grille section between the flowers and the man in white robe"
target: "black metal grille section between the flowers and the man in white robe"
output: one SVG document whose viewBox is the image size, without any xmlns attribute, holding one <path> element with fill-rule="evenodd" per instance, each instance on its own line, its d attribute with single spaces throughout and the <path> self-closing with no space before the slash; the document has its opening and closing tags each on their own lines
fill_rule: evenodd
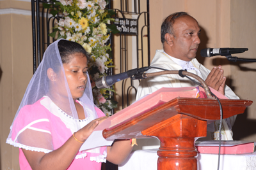
<svg viewBox="0 0 256 170">
<path fill-rule="evenodd" d="M 142 4 L 143 3 L 143 4 Z M 137 22 L 137 32 L 136 34 L 131 34 L 130 32 L 121 32 L 120 34 L 115 34 L 115 36 L 119 36 L 119 40 L 115 39 L 114 43 L 119 44 L 119 51 L 120 53 L 115 55 L 120 55 L 120 63 L 116 63 L 117 66 L 119 64 L 120 67 L 120 73 L 123 73 L 128 70 L 127 63 L 129 63 L 129 60 L 131 60 L 131 50 L 129 49 L 128 45 L 128 37 L 129 36 L 136 36 L 136 66 L 132 67 L 139 68 L 144 66 L 150 66 L 150 27 L 149 27 L 149 1 L 140 1 L 140 0 L 134 0 L 134 1 L 127 1 L 127 0 L 120 0 L 120 9 L 113 8 L 115 10 L 116 15 L 118 19 L 123 18 L 124 20 L 126 18 L 136 20 Z M 145 10 L 145 11 L 144 11 Z M 132 18 L 131 18 L 132 16 Z M 129 21 L 128 21 L 129 22 Z M 147 31 L 145 33 L 145 31 Z M 115 37 L 114 36 L 114 37 Z M 145 40 L 146 38 L 146 40 Z M 146 46 L 145 46 L 146 41 Z M 131 42 L 130 42 L 131 43 Z M 132 41 L 132 43 L 134 43 Z M 131 46 L 130 46 L 131 48 Z M 115 50 L 115 49 L 114 49 Z M 133 50 L 133 49 L 132 49 Z M 132 60 L 134 62 L 134 60 Z M 135 65 L 135 64 L 134 64 Z M 115 73 L 117 74 L 117 73 Z M 122 109 L 125 108 L 125 106 L 129 106 L 132 101 L 132 96 L 129 94 L 129 92 L 133 89 L 135 91 L 135 95 L 137 93 L 136 86 L 134 86 L 134 81 L 138 80 L 130 80 L 129 85 L 125 85 L 125 82 L 128 80 L 122 81 Z M 126 97 L 126 99 L 125 99 Z M 125 103 L 126 101 L 126 103 Z M 133 99 L 134 101 L 134 99 Z"/>
</svg>

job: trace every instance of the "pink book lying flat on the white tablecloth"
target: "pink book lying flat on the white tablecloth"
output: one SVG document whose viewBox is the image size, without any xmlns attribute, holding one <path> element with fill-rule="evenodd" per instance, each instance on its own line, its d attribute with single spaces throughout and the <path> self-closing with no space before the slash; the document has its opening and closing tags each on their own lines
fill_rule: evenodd
<svg viewBox="0 0 256 170">
<path fill-rule="evenodd" d="M 219 141 L 199 141 L 195 143 L 198 153 L 219 153 Z M 221 141 L 220 154 L 244 154 L 254 152 L 252 141 Z"/>
</svg>

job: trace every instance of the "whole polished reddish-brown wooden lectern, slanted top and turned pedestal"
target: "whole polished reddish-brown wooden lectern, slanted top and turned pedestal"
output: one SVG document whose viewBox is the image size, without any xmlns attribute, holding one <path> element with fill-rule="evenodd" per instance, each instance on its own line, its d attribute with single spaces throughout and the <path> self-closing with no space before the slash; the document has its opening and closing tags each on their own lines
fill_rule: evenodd
<svg viewBox="0 0 256 170">
<path fill-rule="evenodd" d="M 220 99 L 223 118 L 244 113 L 248 100 Z M 197 169 L 194 141 L 206 136 L 207 120 L 220 119 L 216 99 L 177 97 L 157 108 L 125 120 L 108 129 L 108 139 L 147 138 L 156 136 L 161 141 L 157 169 Z"/>
</svg>

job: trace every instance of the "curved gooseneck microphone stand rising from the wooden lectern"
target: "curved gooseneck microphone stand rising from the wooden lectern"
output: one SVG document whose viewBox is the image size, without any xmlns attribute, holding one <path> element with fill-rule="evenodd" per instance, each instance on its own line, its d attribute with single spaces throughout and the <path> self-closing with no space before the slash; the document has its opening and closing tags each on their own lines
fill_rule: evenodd
<svg viewBox="0 0 256 170">
<path fill-rule="evenodd" d="M 215 97 L 213 97 L 211 95 L 211 90 L 209 89 L 209 87 L 205 83 L 205 81 L 202 80 L 202 78 L 200 78 L 200 76 L 197 76 L 196 74 L 193 74 L 193 73 L 189 73 L 188 71 L 172 70 L 172 71 L 159 71 L 159 72 L 156 72 L 156 73 L 143 73 L 142 77 L 143 78 L 148 78 L 148 77 L 159 76 L 159 75 L 163 75 L 163 74 L 179 74 L 182 77 L 184 77 L 184 76 L 191 76 L 191 77 L 195 78 L 196 80 L 198 80 L 202 84 L 202 86 L 204 87 L 205 94 L 206 94 L 208 99 L 215 99 Z"/>
</svg>

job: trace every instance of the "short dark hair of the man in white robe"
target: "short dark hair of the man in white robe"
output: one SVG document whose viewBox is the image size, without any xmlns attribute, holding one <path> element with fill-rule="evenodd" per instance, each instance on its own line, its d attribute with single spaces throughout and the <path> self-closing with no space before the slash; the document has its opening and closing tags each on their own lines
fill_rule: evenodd
<svg viewBox="0 0 256 170">
<path fill-rule="evenodd" d="M 186 13 L 186 12 L 172 13 L 171 15 L 169 15 L 168 17 L 166 17 L 164 19 L 164 22 L 161 25 L 161 42 L 162 43 L 164 43 L 164 41 L 166 41 L 164 39 L 164 36 L 166 33 L 173 35 L 173 24 L 175 22 L 175 19 L 177 19 L 183 15 L 188 15 L 188 13 Z"/>
</svg>

